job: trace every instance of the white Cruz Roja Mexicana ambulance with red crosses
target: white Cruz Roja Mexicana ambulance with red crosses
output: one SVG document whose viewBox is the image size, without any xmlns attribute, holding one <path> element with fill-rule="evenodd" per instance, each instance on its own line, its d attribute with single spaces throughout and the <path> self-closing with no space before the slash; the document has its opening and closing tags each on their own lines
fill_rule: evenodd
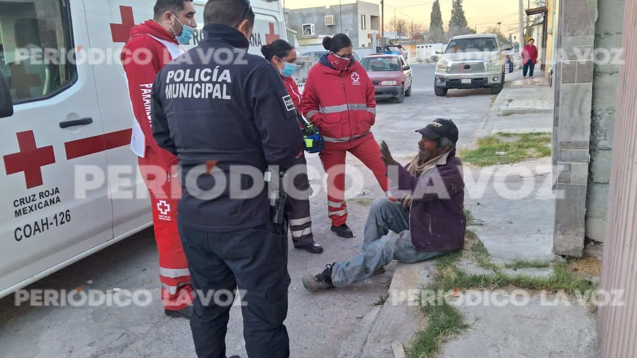
<svg viewBox="0 0 637 358">
<path fill-rule="evenodd" d="M 0 297 L 152 224 L 119 53 L 155 0 L 0 0 Z M 195 0 L 203 38 L 205 0 Z M 252 1 L 250 53 L 287 39 Z M 87 187 L 88 186 L 88 187 Z M 88 189 L 88 190 L 87 190 Z"/>
</svg>

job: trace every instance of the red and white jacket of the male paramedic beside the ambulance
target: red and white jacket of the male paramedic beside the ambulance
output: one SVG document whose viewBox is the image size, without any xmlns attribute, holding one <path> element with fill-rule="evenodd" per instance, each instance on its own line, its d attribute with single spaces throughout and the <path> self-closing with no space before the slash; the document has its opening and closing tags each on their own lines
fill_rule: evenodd
<svg viewBox="0 0 637 358">
<path fill-rule="evenodd" d="M 152 155 L 155 164 L 162 168 L 169 168 L 178 161 L 175 155 L 160 148 L 153 138 L 150 129 L 151 89 L 159 70 L 183 52 L 175 36 L 152 20 L 133 27 L 122 50 L 122 64 L 128 80 L 132 111 L 137 121 L 133 124 L 131 148 L 140 157 Z M 148 57 L 148 54 L 152 56 Z M 136 145 L 143 149 L 136 150 Z"/>
</svg>

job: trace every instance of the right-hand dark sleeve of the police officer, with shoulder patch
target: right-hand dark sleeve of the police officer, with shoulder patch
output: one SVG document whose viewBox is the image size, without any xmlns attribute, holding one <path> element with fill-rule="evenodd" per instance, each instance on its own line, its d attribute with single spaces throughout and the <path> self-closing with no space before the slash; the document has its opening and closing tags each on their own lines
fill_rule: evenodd
<svg viewBox="0 0 637 358">
<path fill-rule="evenodd" d="M 264 64 L 255 69 L 248 82 L 248 94 L 266 162 L 285 171 L 303 150 L 303 134 L 296 120 L 294 103 L 274 66 Z M 287 103 L 286 99 L 289 99 Z"/>
</svg>

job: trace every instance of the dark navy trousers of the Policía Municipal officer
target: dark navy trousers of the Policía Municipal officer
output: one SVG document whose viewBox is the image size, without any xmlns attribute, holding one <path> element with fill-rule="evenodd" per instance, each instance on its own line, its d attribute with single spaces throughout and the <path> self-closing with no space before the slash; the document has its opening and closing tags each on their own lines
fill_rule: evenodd
<svg viewBox="0 0 637 358">
<path fill-rule="evenodd" d="M 232 233 L 179 225 L 196 299 L 190 329 L 199 358 L 226 358 L 225 334 L 239 289 L 249 358 L 288 358 L 287 234 L 265 224 Z M 285 235 L 284 235 L 285 234 Z"/>
</svg>

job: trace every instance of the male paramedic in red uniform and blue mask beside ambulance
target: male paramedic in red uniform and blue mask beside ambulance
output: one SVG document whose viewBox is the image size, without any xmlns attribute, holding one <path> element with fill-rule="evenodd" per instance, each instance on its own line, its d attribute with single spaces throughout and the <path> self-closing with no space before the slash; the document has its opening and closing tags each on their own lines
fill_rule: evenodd
<svg viewBox="0 0 637 358">
<path fill-rule="evenodd" d="M 183 54 L 197 23 L 192 0 L 158 0 L 154 20 L 131 30 L 122 50 L 133 123 L 131 148 L 150 192 L 155 240 L 159 251 L 159 280 L 166 315 L 190 318 L 193 301 L 188 262 L 177 229 L 177 203 L 181 197 L 176 178 L 177 157 L 159 148 L 150 128 L 150 96 L 155 76 L 168 62 Z M 149 57 L 150 56 L 150 57 Z"/>
</svg>

